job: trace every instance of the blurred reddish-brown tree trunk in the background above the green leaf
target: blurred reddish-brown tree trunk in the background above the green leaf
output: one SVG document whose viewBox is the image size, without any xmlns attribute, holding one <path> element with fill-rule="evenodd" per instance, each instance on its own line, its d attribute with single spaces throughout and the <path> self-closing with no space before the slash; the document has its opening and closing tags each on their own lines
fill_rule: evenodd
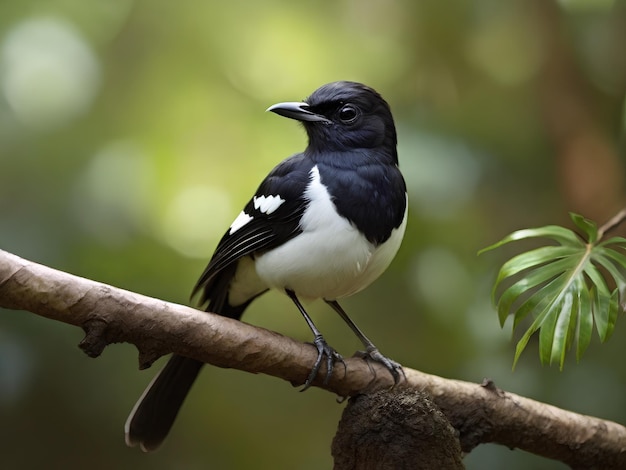
<svg viewBox="0 0 626 470">
<path fill-rule="evenodd" d="M 533 0 L 530 9 L 544 53 L 537 77 L 540 109 L 567 209 L 603 222 L 624 206 L 624 166 L 600 124 L 594 92 L 566 39 L 557 2 Z"/>
</svg>

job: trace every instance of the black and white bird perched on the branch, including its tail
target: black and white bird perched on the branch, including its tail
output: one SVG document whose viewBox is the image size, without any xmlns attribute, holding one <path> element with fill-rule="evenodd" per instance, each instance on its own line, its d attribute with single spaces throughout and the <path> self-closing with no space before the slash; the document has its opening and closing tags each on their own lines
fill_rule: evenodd
<svg viewBox="0 0 626 470">
<path fill-rule="evenodd" d="M 284 292 L 317 348 L 303 390 L 322 364 L 327 383 L 343 362 L 304 308 L 304 301 L 323 299 L 363 343 L 362 354 L 383 364 L 398 383 L 402 366 L 383 356 L 338 303 L 387 269 L 404 236 L 408 196 L 390 107 L 373 88 L 337 81 L 302 102 L 267 111 L 299 121 L 308 145 L 261 182 L 218 243 L 192 298 L 199 296 L 208 312 L 241 319 L 262 294 Z M 129 446 L 148 452 L 161 445 L 202 366 L 179 355 L 169 359 L 126 421 Z"/>
</svg>

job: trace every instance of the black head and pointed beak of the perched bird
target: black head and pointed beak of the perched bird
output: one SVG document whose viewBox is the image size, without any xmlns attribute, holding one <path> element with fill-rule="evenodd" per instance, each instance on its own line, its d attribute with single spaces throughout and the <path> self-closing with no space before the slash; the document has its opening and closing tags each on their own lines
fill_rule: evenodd
<svg viewBox="0 0 626 470">
<path fill-rule="evenodd" d="M 356 82 L 332 82 L 304 102 L 268 108 L 296 119 L 309 136 L 309 152 L 376 149 L 397 163 L 396 128 L 387 102 L 372 88 Z"/>
</svg>

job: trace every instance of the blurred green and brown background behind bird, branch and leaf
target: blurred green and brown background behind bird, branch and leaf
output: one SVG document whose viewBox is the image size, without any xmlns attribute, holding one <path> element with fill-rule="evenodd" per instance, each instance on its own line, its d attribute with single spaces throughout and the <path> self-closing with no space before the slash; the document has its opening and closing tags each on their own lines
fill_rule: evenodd
<svg viewBox="0 0 626 470">
<path fill-rule="evenodd" d="M 523 249 L 476 255 L 512 230 L 603 222 L 623 205 L 626 5 L 611 0 L 20 0 L 0 2 L 0 248 L 186 303 L 263 176 L 304 148 L 264 113 L 338 79 L 394 111 L 411 213 L 390 270 L 344 302 L 385 354 L 626 422 L 626 329 L 583 360 L 515 372 L 489 290 Z M 569 224 L 568 224 L 569 225 Z M 206 368 L 163 448 L 126 448 L 127 413 L 161 363 L 97 360 L 81 332 L 25 312 L 0 320 L 6 469 L 321 469 L 343 405 L 266 376 Z M 312 314 L 351 354 L 323 305 Z M 245 320 L 310 340 L 270 294 Z M 469 469 L 562 469 L 483 445 Z"/>
</svg>

